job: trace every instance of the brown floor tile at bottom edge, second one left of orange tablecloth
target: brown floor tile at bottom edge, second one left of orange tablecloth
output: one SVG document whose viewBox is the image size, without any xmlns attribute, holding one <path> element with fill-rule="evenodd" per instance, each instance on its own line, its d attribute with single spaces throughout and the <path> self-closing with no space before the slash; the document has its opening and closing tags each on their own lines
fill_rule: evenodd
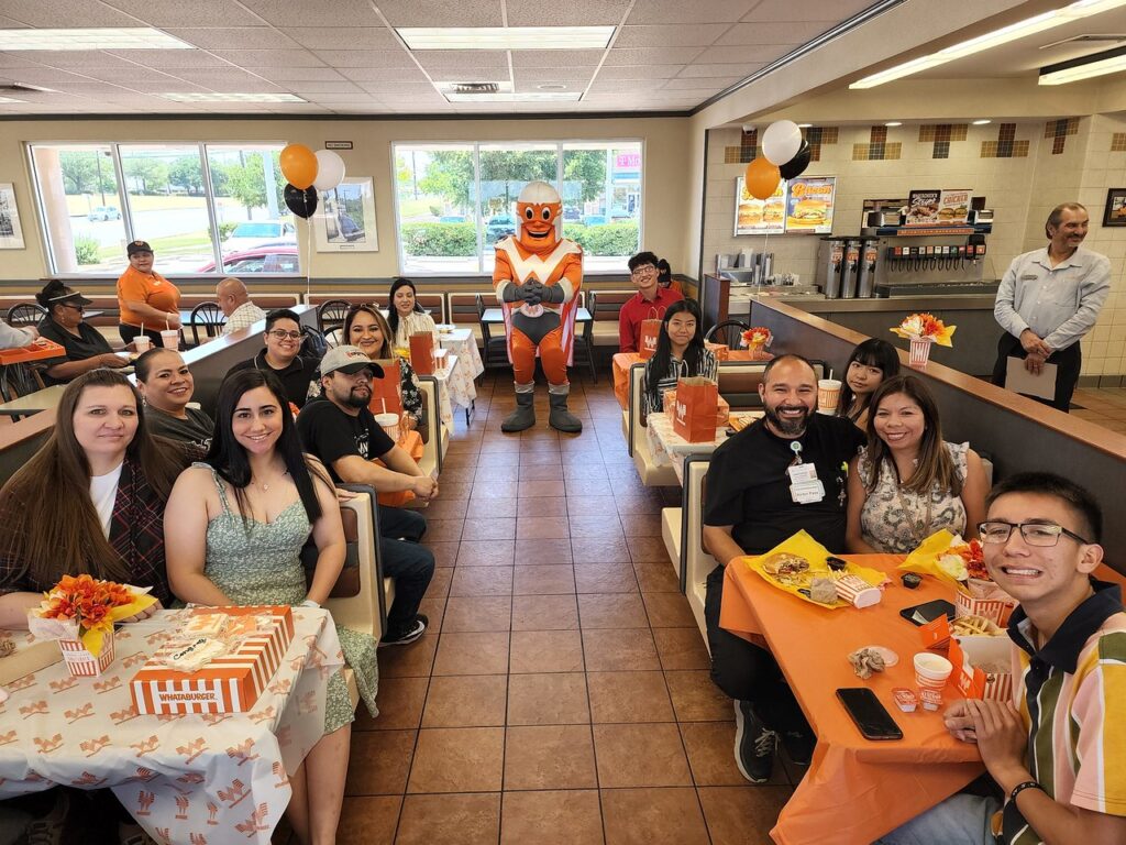
<svg viewBox="0 0 1126 845">
<path fill-rule="evenodd" d="M 708 845 L 692 789 L 601 791 L 606 845 Z"/>
</svg>

